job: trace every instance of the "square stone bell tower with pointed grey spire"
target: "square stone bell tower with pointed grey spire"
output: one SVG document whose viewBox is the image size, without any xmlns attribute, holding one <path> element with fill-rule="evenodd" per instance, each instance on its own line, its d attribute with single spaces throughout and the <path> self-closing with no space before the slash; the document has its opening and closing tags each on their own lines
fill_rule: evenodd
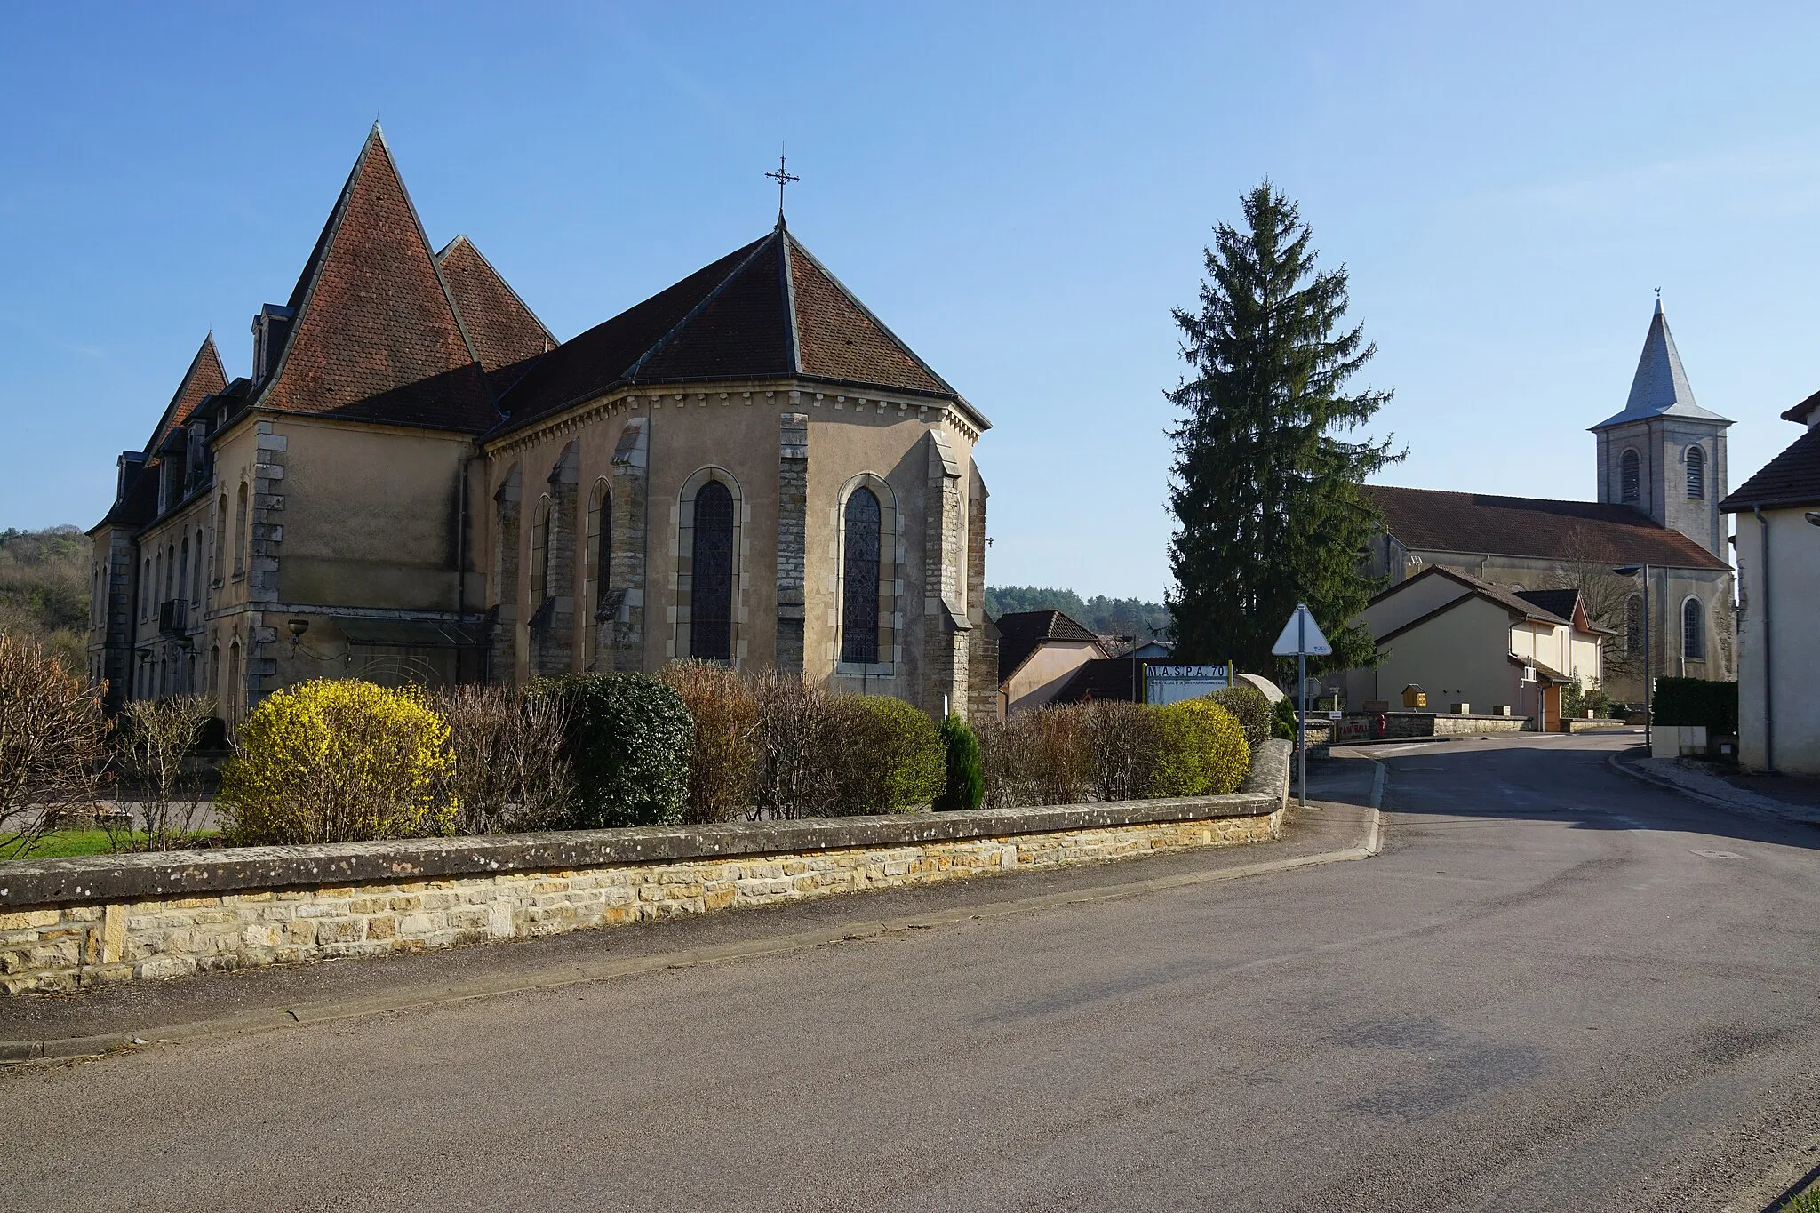
<svg viewBox="0 0 1820 1213">
<path fill-rule="evenodd" d="M 1598 498 L 1633 506 L 1725 560 L 1725 429 L 1731 422 L 1694 404 L 1674 335 L 1649 318 L 1623 411 L 1592 426 L 1598 436 Z"/>
</svg>

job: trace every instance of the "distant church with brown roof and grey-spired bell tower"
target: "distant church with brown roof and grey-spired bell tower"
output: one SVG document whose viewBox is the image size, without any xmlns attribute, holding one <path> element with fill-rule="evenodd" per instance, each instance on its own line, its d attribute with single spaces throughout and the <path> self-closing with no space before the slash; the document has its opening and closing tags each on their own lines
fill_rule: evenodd
<svg viewBox="0 0 1820 1213">
<path fill-rule="evenodd" d="M 1658 300 L 1625 407 L 1592 426 L 1596 502 L 1369 484 L 1383 515 L 1369 573 L 1394 587 L 1443 566 L 1512 591 L 1580 589 L 1591 622 L 1614 633 L 1603 689 L 1616 700 L 1643 700 L 1645 631 L 1653 677 L 1734 680 L 1736 595 L 1720 511 L 1729 426 L 1694 402 Z M 1631 566 L 1638 573 L 1614 573 Z"/>
</svg>

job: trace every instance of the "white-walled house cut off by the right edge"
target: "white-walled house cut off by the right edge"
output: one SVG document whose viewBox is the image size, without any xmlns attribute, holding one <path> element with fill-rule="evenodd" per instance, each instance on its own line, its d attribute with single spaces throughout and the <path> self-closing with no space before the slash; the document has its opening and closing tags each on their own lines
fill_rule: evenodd
<svg viewBox="0 0 1820 1213">
<path fill-rule="evenodd" d="M 1807 431 L 1720 509 L 1738 518 L 1738 762 L 1820 775 L 1820 393 Z"/>
</svg>

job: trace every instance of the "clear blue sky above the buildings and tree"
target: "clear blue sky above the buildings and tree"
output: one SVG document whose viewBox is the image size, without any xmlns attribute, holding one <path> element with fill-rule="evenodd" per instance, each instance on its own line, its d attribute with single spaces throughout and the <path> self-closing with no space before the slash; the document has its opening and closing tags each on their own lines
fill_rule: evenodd
<svg viewBox="0 0 1820 1213">
<path fill-rule="evenodd" d="M 1660 286 L 1736 486 L 1820 387 L 1813 5 L 15 5 L 0 527 L 248 369 L 375 111 L 559 336 L 790 226 L 996 424 L 990 580 L 1158 596 L 1168 309 L 1269 175 L 1396 389 L 1383 480 L 1587 498 Z"/>
</svg>

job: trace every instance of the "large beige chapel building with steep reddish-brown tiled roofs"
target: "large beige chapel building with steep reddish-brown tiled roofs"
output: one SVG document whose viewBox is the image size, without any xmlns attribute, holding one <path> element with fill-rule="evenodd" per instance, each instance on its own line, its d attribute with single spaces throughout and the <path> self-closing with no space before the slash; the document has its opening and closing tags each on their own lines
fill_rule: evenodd
<svg viewBox="0 0 1820 1213">
<path fill-rule="evenodd" d="M 988 429 L 784 226 L 559 342 L 435 251 L 379 125 L 89 533 L 109 698 L 703 658 L 988 718 Z"/>
</svg>

